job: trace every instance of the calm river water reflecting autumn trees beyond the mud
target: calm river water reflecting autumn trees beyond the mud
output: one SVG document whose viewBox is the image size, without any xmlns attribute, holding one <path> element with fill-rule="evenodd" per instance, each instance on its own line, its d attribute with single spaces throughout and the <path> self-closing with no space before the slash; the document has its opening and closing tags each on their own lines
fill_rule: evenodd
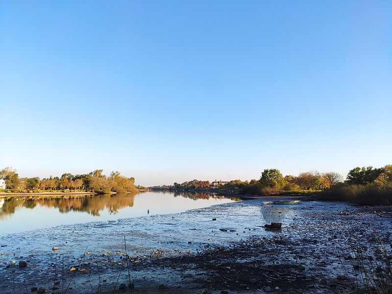
<svg viewBox="0 0 392 294">
<path fill-rule="evenodd" d="M 58 225 L 180 213 L 238 199 L 206 193 L 0 197 L 0 235 Z"/>
</svg>

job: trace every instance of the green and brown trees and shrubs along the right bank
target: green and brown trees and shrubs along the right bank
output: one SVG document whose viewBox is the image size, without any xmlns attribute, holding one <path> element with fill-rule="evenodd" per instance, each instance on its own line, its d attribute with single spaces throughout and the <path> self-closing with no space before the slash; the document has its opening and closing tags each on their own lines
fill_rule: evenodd
<svg viewBox="0 0 392 294">
<path fill-rule="evenodd" d="M 392 165 L 381 168 L 356 167 L 345 179 L 338 172 L 301 172 L 298 176 L 286 175 L 277 169 L 265 169 L 260 179 L 250 181 L 232 180 L 219 184 L 221 189 L 237 190 L 242 194 L 260 196 L 301 195 L 313 193 L 318 199 L 343 200 L 358 204 L 392 203 Z M 209 181 L 194 179 L 181 184 L 166 186 L 170 189 L 201 190 L 212 188 Z"/>
</svg>

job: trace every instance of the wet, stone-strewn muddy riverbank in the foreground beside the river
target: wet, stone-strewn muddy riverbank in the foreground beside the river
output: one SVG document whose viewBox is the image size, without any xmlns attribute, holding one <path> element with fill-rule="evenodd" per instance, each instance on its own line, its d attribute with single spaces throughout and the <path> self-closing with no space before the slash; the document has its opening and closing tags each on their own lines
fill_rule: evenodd
<svg viewBox="0 0 392 294">
<path fill-rule="evenodd" d="M 372 278 L 391 258 L 390 208 L 262 201 L 2 236 L 0 291 L 355 293 L 357 248 Z M 264 228 L 274 221 L 281 230 Z"/>
</svg>

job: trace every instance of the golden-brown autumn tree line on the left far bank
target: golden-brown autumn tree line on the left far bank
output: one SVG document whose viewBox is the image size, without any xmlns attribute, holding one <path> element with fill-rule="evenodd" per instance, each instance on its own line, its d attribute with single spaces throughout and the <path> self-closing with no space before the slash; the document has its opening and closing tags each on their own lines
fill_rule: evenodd
<svg viewBox="0 0 392 294">
<path fill-rule="evenodd" d="M 51 175 L 49 178 L 20 178 L 17 171 L 6 167 L 0 171 L 0 179 L 4 179 L 7 192 L 42 192 L 42 191 L 95 191 L 100 193 L 138 192 L 144 187 L 135 186 L 135 178 L 122 176 L 120 172 L 104 175 L 103 170 L 95 170 L 87 174 L 64 173 L 61 177 Z"/>
</svg>

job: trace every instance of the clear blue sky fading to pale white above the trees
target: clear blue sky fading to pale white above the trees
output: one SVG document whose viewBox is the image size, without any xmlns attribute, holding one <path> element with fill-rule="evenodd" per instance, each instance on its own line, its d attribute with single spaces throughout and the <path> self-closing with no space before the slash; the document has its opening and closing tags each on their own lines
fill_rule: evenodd
<svg viewBox="0 0 392 294">
<path fill-rule="evenodd" d="M 0 1 L 0 168 L 145 186 L 392 164 L 392 1 Z"/>
</svg>

